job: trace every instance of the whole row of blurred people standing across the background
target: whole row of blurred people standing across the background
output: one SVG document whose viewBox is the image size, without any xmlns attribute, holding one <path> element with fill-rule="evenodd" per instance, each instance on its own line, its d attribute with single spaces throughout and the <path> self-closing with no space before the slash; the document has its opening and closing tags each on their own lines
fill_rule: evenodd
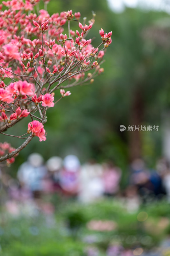
<svg viewBox="0 0 170 256">
<path fill-rule="evenodd" d="M 94 160 L 83 165 L 75 155 L 64 159 L 53 156 L 45 163 L 38 153 L 31 154 L 18 169 L 17 179 L 1 172 L 10 200 L 41 199 L 44 194 L 58 194 L 90 203 L 108 196 L 124 200 L 129 211 L 141 203 L 166 197 L 170 201 L 170 168 L 166 159 L 157 161 L 155 170 L 142 159 L 130 165 L 125 189 L 120 189 L 122 170 L 113 162 L 99 164 Z"/>
</svg>

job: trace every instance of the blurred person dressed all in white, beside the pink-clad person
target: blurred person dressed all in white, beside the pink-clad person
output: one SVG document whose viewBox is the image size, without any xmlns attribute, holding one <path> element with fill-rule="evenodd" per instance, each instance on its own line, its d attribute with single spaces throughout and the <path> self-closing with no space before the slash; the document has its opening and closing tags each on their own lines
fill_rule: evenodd
<svg viewBox="0 0 170 256">
<path fill-rule="evenodd" d="M 103 168 L 101 164 L 91 161 L 84 164 L 80 172 L 80 189 L 78 199 L 90 203 L 100 198 L 104 193 Z"/>
</svg>

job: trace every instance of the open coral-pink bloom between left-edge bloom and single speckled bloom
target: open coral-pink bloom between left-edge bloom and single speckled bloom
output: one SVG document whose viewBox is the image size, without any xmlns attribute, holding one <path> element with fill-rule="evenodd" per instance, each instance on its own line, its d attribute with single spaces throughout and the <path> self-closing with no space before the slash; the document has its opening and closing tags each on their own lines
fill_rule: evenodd
<svg viewBox="0 0 170 256">
<path fill-rule="evenodd" d="M 14 82 L 14 89 L 17 90 L 21 95 L 33 95 L 34 85 L 27 83 L 26 81 Z"/>
</svg>

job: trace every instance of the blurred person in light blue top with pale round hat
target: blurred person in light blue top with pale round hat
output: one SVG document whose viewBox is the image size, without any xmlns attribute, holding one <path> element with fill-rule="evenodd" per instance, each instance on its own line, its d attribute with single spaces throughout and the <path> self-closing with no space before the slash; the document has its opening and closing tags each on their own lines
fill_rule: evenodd
<svg viewBox="0 0 170 256">
<path fill-rule="evenodd" d="M 29 189 L 34 198 L 39 198 L 43 191 L 43 179 L 47 175 L 47 168 L 43 164 L 43 157 L 38 153 L 33 153 L 28 160 L 21 164 L 17 177 L 21 187 Z"/>
</svg>

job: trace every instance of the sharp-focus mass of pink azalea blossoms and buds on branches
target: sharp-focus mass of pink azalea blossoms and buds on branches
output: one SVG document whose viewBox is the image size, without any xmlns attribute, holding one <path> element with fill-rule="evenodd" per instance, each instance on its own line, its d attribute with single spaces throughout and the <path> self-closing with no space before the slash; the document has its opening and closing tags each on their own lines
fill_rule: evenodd
<svg viewBox="0 0 170 256">
<path fill-rule="evenodd" d="M 34 136 L 46 140 L 47 109 L 71 94 L 67 88 L 92 84 L 104 71 L 100 65 L 112 36 L 101 29 L 101 43 L 94 46 L 87 38 L 94 16 L 82 25 L 80 12 L 72 10 L 50 16 L 42 9 L 37 15 L 39 1 L 9 0 L 0 5 L 0 133 L 9 135 L 10 127 L 29 117 L 27 135 L 10 134 L 26 138 L 26 143 Z M 73 19 L 78 21 L 75 31 L 70 29 Z"/>
</svg>

